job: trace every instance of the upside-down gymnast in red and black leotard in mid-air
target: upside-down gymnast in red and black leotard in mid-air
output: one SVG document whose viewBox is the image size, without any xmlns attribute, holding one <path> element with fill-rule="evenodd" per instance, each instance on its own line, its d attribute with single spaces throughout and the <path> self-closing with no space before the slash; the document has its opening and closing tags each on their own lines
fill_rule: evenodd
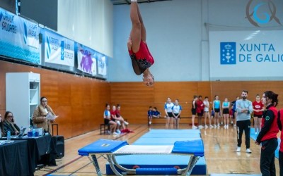
<svg viewBox="0 0 283 176">
<path fill-rule="evenodd" d="M 129 15 L 132 21 L 132 30 L 129 34 L 127 47 L 132 60 L 132 67 L 137 75 L 144 73 L 144 84 L 150 86 L 154 84 L 154 76 L 149 71 L 149 67 L 154 64 L 154 58 L 146 44 L 146 28 L 139 12 L 137 0 L 131 0 Z"/>
</svg>

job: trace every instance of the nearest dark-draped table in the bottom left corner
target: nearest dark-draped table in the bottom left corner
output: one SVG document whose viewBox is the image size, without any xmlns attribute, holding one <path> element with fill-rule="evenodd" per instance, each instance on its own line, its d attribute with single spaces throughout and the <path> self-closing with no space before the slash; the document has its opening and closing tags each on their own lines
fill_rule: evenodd
<svg viewBox="0 0 283 176">
<path fill-rule="evenodd" d="M 14 141 L 0 146 L 0 175 L 33 175 L 28 161 L 28 142 Z"/>
</svg>

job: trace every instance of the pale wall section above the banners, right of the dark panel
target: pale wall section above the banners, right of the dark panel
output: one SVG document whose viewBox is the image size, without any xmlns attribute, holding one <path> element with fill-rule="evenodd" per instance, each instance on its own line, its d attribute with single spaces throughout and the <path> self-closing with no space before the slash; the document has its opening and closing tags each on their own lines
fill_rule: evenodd
<svg viewBox="0 0 283 176">
<path fill-rule="evenodd" d="M 58 33 L 113 57 L 110 0 L 58 0 Z"/>
</svg>

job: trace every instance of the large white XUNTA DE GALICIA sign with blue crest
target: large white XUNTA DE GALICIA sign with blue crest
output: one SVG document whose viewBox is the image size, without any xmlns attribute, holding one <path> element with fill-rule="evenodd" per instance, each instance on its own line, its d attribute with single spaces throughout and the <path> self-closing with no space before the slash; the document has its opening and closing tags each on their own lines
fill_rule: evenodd
<svg viewBox="0 0 283 176">
<path fill-rule="evenodd" d="M 282 36 L 282 30 L 210 31 L 210 78 L 270 80 L 273 77 L 276 80 L 275 77 L 282 77 Z"/>
</svg>

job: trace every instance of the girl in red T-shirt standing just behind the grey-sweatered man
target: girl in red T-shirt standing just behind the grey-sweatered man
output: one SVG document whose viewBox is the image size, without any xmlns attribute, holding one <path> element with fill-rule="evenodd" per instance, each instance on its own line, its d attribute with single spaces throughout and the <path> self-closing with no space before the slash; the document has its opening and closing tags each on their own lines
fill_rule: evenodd
<svg viewBox="0 0 283 176">
<path fill-rule="evenodd" d="M 255 96 L 255 101 L 253 101 L 253 121 L 255 123 L 255 134 L 260 132 L 260 122 L 262 118 L 262 112 L 265 111 L 265 106 L 260 101 L 260 95 Z"/>
</svg>

